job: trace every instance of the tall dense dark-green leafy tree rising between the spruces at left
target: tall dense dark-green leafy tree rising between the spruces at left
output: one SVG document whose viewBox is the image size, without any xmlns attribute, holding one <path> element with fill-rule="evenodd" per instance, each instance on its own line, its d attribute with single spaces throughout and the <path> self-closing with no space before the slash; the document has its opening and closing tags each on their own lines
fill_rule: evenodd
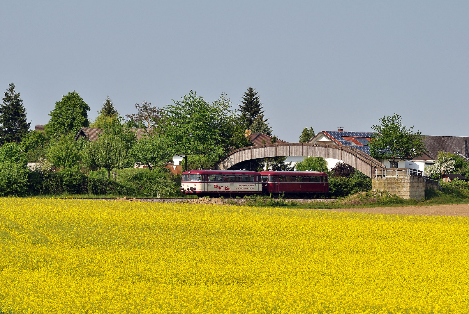
<svg viewBox="0 0 469 314">
<path fill-rule="evenodd" d="M 76 135 L 82 127 L 88 127 L 88 111 L 90 107 L 77 92 L 69 92 L 55 103 L 50 112 L 50 121 L 45 124 L 45 135 L 49 139 L 57 139 L 61 135 Z"/>
</svg>

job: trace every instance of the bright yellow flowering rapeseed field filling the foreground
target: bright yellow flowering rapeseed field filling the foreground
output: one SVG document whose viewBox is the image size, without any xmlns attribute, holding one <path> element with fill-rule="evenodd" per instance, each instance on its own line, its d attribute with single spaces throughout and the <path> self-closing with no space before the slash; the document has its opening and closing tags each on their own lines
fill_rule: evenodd
<svg viewBox="0 0 469 314">
<path fill-rule="evenodd" d="M 469 313 L 469 220 L 0 198 L 4 313 Z"/>
</svg>

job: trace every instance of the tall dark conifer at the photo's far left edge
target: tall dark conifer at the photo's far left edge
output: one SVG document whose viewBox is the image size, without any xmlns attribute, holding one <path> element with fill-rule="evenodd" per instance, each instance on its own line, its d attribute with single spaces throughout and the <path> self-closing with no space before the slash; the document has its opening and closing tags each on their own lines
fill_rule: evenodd
<svg viewBox="0 0 469 314">
<path fill-rule="evenodd" d="M 0 105 L 0 143 L 16 141 L 20 143 L 29 132 L 30 124 L 26 121 L 26 110 L 20 93 L 16 93 L 15 84 L 10 83 L 3 104 Z"/>
</svg>

